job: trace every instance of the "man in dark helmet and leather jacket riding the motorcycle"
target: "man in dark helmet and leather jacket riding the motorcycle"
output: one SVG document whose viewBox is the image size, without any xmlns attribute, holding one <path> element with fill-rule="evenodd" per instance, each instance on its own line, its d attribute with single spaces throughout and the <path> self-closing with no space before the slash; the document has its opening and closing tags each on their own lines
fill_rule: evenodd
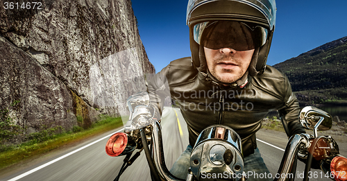
<svg viewBox="0 0 347 181">
<path fill-rule="evenodd" d="M 244 171 L 259 174 L 269 173 L 255 139 L 266 114 L 278 110 L 288 136 L 305 132 L 289 80 L 266 66 L 275 22 L 275 0 L 189 0 L 192 57 L 171 62 L 148 87 L 159 114 L 160 95 L 169 90 L 187 122 L 189 145 L 170 171 L 178 178 L 185 179 L 192 146 L 210 125 L 235 130 L 242 138 Z"/>
</svg>

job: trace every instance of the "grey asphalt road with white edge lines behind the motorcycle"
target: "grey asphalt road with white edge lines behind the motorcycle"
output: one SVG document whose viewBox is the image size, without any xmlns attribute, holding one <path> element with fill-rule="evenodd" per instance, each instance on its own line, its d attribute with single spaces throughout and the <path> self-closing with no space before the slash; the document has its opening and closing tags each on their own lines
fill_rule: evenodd
<svg viewBox="0 0 347 181">
<path fill-rule="evenodd" d="M 170 169 L 188 144 L 187 125 L 178 109 L 167 108 L 164 110 L 162 130 L 164 157 L 167 168 Z M 114 180 L 121 168 L 124 157 L 108 156 L 105 153 L 105 144 L 108 137 L 116 131 L 106 132 L 98 138 L 51 157 L 49 160 L 29 166 L 2 180 Z M 122 130 L 119 129 L 118 131 Z M 270 137 L 269 135 L 273 136 Z M 264 162 L 270 173 L 275 175 L 282 160 L 287 137 L 285 133 L 260 131 L 257 133 L 257 138 L 260 139 L 257 141 L 257 145 Z M 272 146 L 264 144 L 263 141 L 269 142 Z M 277 146 L 277 148 L 274 146 Z M 296 180 L 302 180 L 301 175 L 303 175 L 304 169 L 305 165 L 298 162 Z M 318 178 L 310 180 L 330 180 L 324 178 L 324 174 L 320 170 L 312 171 Z M 267 175 L 269 176 L 269 174 Z M 137 158 L 133 165 L 126 169 L 120 180 L 151 181 L 144 152 L 141 153 L 141 156 Z"/>
</svg>

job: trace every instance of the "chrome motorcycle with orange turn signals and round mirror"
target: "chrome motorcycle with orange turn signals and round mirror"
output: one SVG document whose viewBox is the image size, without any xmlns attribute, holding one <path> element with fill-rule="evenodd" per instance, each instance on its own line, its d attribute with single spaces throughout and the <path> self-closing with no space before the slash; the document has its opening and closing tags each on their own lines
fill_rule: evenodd
<svg viewBox="0 0 347 181">
<path fill-rule="evenodd" d="M 160 120 L 155 119 L 155 109 L 149 105 L 146 92 L 130 96 L 127 100 L 130 116 L 124 132 L 112 135 L 105 146 L 111 157 L 125 155 L 124 164 L 115 180 L 133 164 L 144 150 L 151 170 L 152 180 L 182 180 L 172 175 L 165 164 Z M 313 135 L 296 134 L 289 138 L 280 168 L 274 180 L 294 180 L 297 160 L 305 161 L 303 180 L 309 180 L 310 169 L 321 169 L 332 180 L 347 180 L 347 158 L 339 155 L 339 146 L 330 136 L 318 136 L 318 130 L 329 130 L 332 117 L 316 107 L 304 107 L 298 115 L 304 128 Z M 133 157 L 135 149 L 139 149 Z M 242 141 L 235 130 L 223 125 L 205 128 L 192 149 L 190 168 L 186 181 L 247 180 L 244 171 Z M 207 177 L 223 174 L 222 177 Z M 227 175 L 227 176 L 226 176 Z"/>
</svg>

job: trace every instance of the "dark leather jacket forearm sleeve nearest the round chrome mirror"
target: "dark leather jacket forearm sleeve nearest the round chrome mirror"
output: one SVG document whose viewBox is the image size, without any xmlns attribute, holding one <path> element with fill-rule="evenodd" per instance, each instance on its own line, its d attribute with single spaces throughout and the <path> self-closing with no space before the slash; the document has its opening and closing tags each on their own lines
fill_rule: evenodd
<svg viewBox="0 0 347 181">
<path fill-rule="evenodd" d="M 305 128 L 301 126 L 298 119 L 298 114 L 301 110 L 298 99 L 296 99 L 295 94 L 291 91 L 291 85 L 287 76 L 285 76 L 285 96 L 283 102 L 284 106 L 278 112 L 287 136 L 291 137 L 295 134 L 305 133 Z"/>
</svg>

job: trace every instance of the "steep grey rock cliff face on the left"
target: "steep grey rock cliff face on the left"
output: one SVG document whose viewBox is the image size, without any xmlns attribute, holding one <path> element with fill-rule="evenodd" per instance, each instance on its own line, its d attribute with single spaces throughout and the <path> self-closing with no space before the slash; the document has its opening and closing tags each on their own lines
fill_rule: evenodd
<svg viewBox="0 0 347 181">
<path fill-rule="evenodd" d="M 31 133 L 125 112 L 143 75 L 155 73 L 131 1 L 40 2 L 0 9 L 1 120 Z"/>
</svg>

